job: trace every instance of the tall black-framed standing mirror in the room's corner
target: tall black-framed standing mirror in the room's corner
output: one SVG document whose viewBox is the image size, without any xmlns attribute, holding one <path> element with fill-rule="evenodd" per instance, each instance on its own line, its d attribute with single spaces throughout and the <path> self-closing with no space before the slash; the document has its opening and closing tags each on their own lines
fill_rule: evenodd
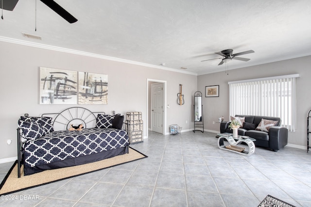
<svg viewBox="0 0 311 207">
<path fill-rule="evenodd" d="M 197 91 L 194 93 L 194 130 L 204 132 L 203 123 L 203 105 L 202 105 L 202 93 Z"/>
</svg>

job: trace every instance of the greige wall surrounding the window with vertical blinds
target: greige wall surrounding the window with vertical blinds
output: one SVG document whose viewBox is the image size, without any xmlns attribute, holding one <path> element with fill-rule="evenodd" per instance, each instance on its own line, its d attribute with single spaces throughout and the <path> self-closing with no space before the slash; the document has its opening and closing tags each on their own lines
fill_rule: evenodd
<svg viewBox="0 0 311 207">
<path fill-rule="evenodd" d="M 219 85 L 219 97 L 204 97 L 204 125 L 205 129 L 219 131 L 218 117 L 224 115 L 229 119 L 229 85 L 228 81 L 247 80 L 264 77 L 273 77 L 289 74 L 300 74 L 297 78 L 297 128 L 295 132 L 289 132 L 288 143 L 295 147 L 307 149 L 307 116 L 311 110 L 311 56 L 294 58 L 270 64 L 261 64 L 225 72 L 198 76 L 198 90 L 205 94 L 205 86 Z M 230 65 L 229 65 L 230 67 Z"/>
</svg>

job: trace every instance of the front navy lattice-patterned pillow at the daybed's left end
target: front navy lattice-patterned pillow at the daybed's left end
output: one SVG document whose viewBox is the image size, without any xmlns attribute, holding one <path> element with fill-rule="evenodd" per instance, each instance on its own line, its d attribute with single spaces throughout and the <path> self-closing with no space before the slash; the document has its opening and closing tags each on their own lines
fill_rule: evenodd
<svg viewBox="0 0 311 207">
<path fill-rule="evenodd" d="M 22 133 L 26 139 L 35 140 L 45 136 L 44 128 L 38 123 L 26 122 L 19 119 L 18 126 L 22 129 Z"/>
</svg>

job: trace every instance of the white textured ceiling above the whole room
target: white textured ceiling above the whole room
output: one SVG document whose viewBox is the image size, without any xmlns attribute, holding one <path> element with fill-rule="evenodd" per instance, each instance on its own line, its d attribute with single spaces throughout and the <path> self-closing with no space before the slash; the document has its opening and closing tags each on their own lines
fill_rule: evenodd
<svg viewBox="0 0 311 207">
<path fill-rule="evenodd" d="M 215 52 L 229 48 L 255 53 L 239 56 L 248 62 L 232 60 L 228 69 L 311 55 L 310 0 L 55 1 L 78 21 L 69 24 L 39 0 L 19 0 L 13 11 L 3 10 L 2 41 L 12 38 L 198 75 L 224 71 L 220 59 L 201 61 L 219 58 Z"/>
</svg>

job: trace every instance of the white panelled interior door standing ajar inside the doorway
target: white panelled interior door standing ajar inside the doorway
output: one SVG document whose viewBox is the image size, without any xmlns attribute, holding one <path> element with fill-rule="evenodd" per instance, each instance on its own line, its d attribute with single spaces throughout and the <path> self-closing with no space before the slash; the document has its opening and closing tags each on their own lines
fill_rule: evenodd
<svg viewBox="0 0 311 207">
<path fill-rule="evenodd" d="M 151 84 L 152 131 L 163 134 L 163 83 Z"/>
</svg>

